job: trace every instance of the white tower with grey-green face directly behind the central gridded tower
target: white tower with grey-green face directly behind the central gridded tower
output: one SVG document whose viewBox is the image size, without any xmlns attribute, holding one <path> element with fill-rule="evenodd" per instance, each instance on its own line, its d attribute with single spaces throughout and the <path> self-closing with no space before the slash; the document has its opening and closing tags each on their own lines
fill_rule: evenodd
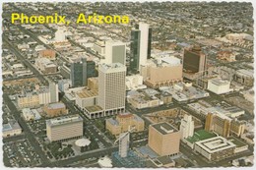
<svg viewBox="0 0 256 170">
<path fill-rule="evenodd" d="M 126 65 L 126 44 L 121 41 L 105 42 L 105 64 L 121 63 Z"/>
</svg>

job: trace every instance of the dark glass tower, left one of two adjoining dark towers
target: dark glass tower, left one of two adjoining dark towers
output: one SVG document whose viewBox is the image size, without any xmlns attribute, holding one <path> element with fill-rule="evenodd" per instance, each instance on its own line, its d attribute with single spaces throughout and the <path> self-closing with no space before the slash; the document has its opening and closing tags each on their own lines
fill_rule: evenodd
<svg viewBox="0 0 256 170">
<path fill-rule="evenodd" d="M 87 59 L 82 58 L 78 61 L 71 63 L 71 85 L 83 86 L 87 85 Z"/>
</svg>

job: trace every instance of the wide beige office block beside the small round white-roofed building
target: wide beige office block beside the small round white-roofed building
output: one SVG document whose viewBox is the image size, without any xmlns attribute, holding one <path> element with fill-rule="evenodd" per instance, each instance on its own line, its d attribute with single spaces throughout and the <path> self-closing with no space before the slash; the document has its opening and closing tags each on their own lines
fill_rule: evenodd
<svg viewBox="0 0 256 170">
<path fill-rule="evenodd" d="M 83 118 L 79 115 L 46 120 L 46 135 L 50 142 L 83 137 Z"/>
</svg>

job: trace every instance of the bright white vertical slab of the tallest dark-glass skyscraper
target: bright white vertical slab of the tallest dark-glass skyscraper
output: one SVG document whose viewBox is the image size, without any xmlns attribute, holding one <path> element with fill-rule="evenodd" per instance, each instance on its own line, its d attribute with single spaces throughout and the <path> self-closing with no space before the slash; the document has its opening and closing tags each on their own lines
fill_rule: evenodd
<svg viewBox="0 0 256 170">
<path fill-rule="evenodd" d="M 140 65 L 146 65 L 148 58 L 148 48 L 149 48 L 149 29 L 150 26 L 145 23 L 139 24 L 139 29 L 141 30 L 141 40 L 140 40 Z"/>
</svg>

